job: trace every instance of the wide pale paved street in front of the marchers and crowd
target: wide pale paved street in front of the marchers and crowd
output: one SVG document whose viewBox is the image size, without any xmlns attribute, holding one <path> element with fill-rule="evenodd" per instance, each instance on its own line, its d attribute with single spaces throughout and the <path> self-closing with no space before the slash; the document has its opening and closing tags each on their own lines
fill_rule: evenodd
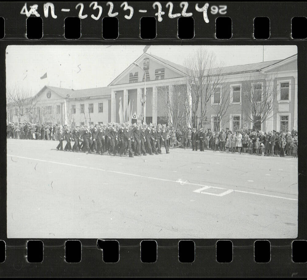
<svg viewBox="0 0 307 280">
<path fill-rule="evenodd" d="M 7 140 L 9 238 L 295 238 L 297 159 Z M 65 143 L 63 143 L 65 145 Z"/>
</svg>

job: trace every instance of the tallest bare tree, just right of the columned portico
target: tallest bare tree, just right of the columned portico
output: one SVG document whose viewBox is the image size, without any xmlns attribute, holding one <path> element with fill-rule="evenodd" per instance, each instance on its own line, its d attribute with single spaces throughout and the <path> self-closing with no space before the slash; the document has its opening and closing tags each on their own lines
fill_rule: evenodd
<svg viewBox="0 0 307 280">
<path fill-rule="evenodd" d="M 202 125 L 207 112 L 207 103 L 216 88 L 223 83 L 222 67 L 216 62 L 215 55 L 205 49 L 200 49 L 194 56 L 190 56 L 185 67 L 188 87 L 186 111 L 192 126 L 196 127 L 197 119 Z M 190 115 L 192 117 L 189 117 Z"/>
</svg>

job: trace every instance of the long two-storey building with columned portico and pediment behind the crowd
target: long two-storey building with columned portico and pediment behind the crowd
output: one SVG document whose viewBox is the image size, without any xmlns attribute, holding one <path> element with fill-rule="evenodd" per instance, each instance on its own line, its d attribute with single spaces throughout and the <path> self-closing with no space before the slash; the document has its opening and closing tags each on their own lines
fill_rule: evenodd
<svg viewBox="0 0 307 280">
<path fill-rule="evenodd" d="M 79 125 L 120 122 L 121 101 L 125 121 L 135 112 L 140 117 L 145 115 L 147 124 L 167 124 L 165 95 L 172 96 L 187 90 L 186 73 L 187 69 L 182 65 L 143 53 L 107 87 L 69 90 L 45 86 L 37 95 L 41 96 L 40 106 L 49 106 L 47 113 L 56 110 L 58 114 L 58 119 L 49 118 L 48 122 L 64 124 L 73 120 Z M 206 116 L 201 124 L 203 128 L 214 130 L 217 121 L 220 121 L 219 129 L 251 128 L 244 98 L 248 87 L 250 91 L 258 93 L 259 97 L 267 89 L 274 89 L 274 106 L 266 120 L 256 124 L 257 129 L 278 131 L 297 128 L 297 55 L 274 61 L 223 67 L 221 75 L 223 82 L 207 103 Z M 215 108 L 224 94 L 229 98 L 229 106 L 226 114 L 218 120 Z M 49 95 L 51 96 L 48 97 Z M 7 114 L 8 121 L 16 121 L 14 108 L 10 105 Z M 45 122 L 46 120 L 47 118 L 44 119 Z"/>
</svg>

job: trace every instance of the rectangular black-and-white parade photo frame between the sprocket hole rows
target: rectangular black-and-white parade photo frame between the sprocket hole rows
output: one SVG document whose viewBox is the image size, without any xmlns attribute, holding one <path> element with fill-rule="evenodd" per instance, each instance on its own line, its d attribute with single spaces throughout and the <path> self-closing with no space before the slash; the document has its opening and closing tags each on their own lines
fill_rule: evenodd
<svg viewBox="0 0 307 280">
<path fill-rule="evenodd" d="M 297 46 L 9 45 L 8 238 L 296 238 Z"/>
</svg>

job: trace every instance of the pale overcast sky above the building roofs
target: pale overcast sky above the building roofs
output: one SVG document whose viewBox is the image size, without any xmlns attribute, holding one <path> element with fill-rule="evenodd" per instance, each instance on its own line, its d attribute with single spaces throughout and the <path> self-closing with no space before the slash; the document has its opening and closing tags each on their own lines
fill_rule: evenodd
<svg viewBox="0 0 307 280">
<path fill-rule="evenodd" d="M 6 86 L 36 94 L 43 86 L 84 89 L 107 86 L 145 46 L 8 46 Z M 200 46 L 150 46 L 147 53 L 183 65 Z M 202 46 L 224 66 L 262 61 L 262 46 Z M 264 61 L 297 53 L 296 46 L 264 46 Z M 79 67 L 78 67 L 79 65 Z M 81 69 L 81 70 L 80 70 Z M 40 79 L 47 72 L 47 79 Z"/>
</svg>

